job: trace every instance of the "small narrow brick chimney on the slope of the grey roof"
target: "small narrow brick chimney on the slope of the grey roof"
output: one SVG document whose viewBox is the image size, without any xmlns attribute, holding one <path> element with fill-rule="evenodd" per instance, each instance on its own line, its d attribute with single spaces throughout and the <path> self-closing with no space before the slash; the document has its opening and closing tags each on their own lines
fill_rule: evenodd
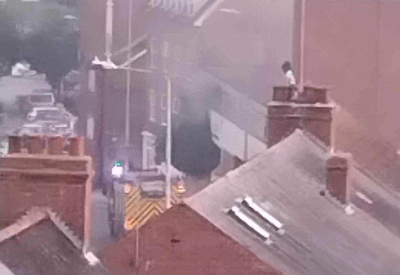
<svg viewBox="0 0 400 275">
<path fill-rule="evenodd" d="M 342 204 L 349 201 L 350 186 L 347 182 L 347 172 L 351 158 L 349 153 L 338 153 L 331 155 L 326 161 L 326 189 Z"/>
</svg>

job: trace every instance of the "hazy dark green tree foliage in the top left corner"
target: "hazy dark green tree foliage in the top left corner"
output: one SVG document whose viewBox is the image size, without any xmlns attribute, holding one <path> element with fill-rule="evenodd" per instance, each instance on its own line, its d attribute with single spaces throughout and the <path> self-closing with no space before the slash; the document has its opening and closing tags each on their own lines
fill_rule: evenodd
<svg viewBox="0 0 400 275">
<path fill-rule="evenodd" d="M 72 26 L 76 22 L 64 18 L 66 9 L 43 2 L 26 14 L 24 6 L 0 5 L 0 68 L 26 59 L 57 88 L 78 66 L 78 32 Z"/>
</svg>

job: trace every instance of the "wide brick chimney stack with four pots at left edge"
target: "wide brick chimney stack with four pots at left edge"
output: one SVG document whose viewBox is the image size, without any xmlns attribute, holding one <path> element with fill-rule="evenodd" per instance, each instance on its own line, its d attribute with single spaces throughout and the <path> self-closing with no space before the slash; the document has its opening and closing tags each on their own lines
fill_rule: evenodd
<svg viewBox="0 0 400 275">
<path fill-rule="evenodd" d="M 92 158 L 84 139 L 61 136 L 9 137 L 9 153 L 0 157 L 0 228 L 32 206 L 50 207 L 84 241 L 90 240 Z M 23 153 L 28 151 L 28 153 Z"/>
</svg>

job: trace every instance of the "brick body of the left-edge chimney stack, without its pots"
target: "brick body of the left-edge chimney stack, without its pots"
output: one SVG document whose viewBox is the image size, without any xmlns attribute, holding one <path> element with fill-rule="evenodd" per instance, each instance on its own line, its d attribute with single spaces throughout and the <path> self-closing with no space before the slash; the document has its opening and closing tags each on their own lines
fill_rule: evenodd
<svg viewBox="0 0 400 275">
<path fill-rule="evenodd" d="M 12 154 L 0 159 L 0 227 L 32 206 L 49 206 L 84 237 L 90 202 L 90 157 Z M 87 218 L 87 217 L 86 217 Z"/>
</svg>

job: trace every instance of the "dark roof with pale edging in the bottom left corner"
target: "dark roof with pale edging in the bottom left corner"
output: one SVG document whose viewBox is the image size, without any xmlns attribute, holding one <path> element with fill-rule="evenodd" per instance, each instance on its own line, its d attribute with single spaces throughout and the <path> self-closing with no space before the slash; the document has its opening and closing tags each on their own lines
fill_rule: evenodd
<svg viewBox="0 0 400 275">
<path fill-rule="evenodd" d="M 81 242 L 54 213 L 33 208 L 0 231 L 0 263 L 14 275 L 106 275 L 100 263 L 90 265 Z"/>
</svg>

